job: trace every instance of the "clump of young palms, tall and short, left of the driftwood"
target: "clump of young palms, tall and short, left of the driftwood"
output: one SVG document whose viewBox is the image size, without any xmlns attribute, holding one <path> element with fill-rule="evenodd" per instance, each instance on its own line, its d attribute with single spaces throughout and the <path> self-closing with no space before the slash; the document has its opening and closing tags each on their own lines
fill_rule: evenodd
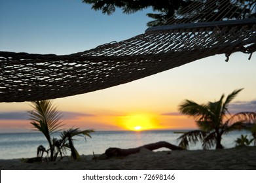
<svg viewBox="0 0 256 183">
<path fill-rule="evenodd" d="M 92 129 L 81 131 L 79 128 L 67 129 L 61 133 L 61 139 L 52 138 L 52 134 L 61 131 L 64 125 L 60 121 L 62 115 L 57 108 L 52 105 L 52 101 L 33 101 L 33 110 L 29 111 L 30 120 L 33 128 L 41 131 L 50 146 L 50 161 L 56 161 L 58 154 L 63 157 L 65 150 L 71 150 L 73 159 L 79 159 L 79 154 L 73 144 L 73 137 L 75 135 L 84 135 L 90 137 L 90 133 L 94 132 Z"/>
</svg>

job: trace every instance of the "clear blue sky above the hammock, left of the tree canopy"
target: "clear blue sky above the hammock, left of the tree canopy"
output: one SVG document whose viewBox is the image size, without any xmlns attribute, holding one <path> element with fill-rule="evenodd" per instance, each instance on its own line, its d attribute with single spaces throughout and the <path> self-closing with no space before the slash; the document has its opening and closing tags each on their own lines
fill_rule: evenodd
<svg viewBox="0 0 256 183">
<path fill-rule="evenodd" d="M 0 49 L 39 54 L 71 54 L 99 44 L 128 39 L 145 31 L 145 16 L 112 16 L 94 11 L 80 0 L 0 1 Z"/>
</svg>

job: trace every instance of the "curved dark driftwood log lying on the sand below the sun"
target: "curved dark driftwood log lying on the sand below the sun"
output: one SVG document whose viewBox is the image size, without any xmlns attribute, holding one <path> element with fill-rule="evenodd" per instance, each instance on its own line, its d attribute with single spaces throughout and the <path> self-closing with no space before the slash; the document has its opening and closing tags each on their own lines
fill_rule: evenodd
<svg viewBox="0 0 256 183">
<path fill-rule="evenodd" d="M 113 157 L 113 156 L 128 156 L 130 154 L 135 154 L 141 150 L 141 148 L 145 148 L 148 150 L 156 150 L 158 148 L 168 148 L 170 150 L 183 150 L 183 148 L 179 146 L 175 146 L 174 144 L 170 144 L 168 142 L 156 142 L 152 144 L 145 144 L 144 146 L 139 146 L 137 148 L 129 148 L 129 149 L 121 149 L 121 148 L 108 148 L 105 151 L 105 156 Z"/>
</svg>

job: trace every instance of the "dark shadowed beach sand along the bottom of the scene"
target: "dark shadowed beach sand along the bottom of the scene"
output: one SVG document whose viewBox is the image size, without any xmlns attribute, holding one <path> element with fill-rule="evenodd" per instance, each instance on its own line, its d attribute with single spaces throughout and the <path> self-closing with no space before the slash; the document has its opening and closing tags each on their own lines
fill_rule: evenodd
<svg viewBox="0 0 256 183">
<path fill-rule="evenodd" d="M 98 159 L 81 156 L 78 161 L 64 158 L 62 161 L 24 163 L 21 159 L 0 159 L 0 169 L 51 170 L 51 169 L 177 169 L 217 170 L 256 169 L 256 147 L 240 147 L 225 150 L 174 150 L 151 152 L 143 149 L 126 157 Z"/>
</svg>

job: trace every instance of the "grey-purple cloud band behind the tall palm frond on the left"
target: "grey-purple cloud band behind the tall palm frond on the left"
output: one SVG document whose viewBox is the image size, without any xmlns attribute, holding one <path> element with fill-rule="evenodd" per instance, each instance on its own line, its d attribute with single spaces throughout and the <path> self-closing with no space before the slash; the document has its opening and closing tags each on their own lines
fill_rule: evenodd
<svg viewBox="0 0 256 183">
<path fill-rule="evenodd" d="M 79 112 L 61 112 L 62 120 L 77 119 L 84 116 L 94 116 L 93 114 Z M 0 112 L 0 120 L 29 120 L 29 114 L 26 111 Z"/>
</svg>

